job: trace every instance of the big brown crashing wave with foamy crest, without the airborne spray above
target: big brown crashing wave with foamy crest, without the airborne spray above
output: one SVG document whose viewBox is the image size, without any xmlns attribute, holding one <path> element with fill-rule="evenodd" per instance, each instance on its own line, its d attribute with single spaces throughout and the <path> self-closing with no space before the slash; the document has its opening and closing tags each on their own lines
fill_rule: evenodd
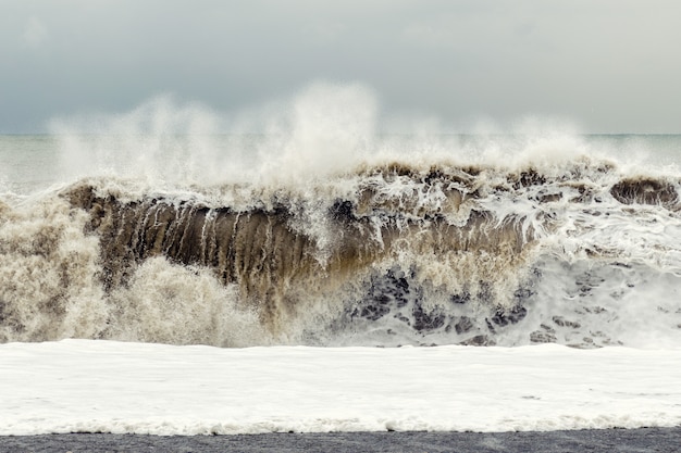
<svg viewBox="0 0 681 453">
<path fill-rule="evenodd" d="M 680 284 L 678 193 L 586 158 L 176 193 L 84 179 L 0 210 L 0 335 L 594 347 L 636 341 L 643 316 L 676 338 L 655 288 Z"/>
</svg>

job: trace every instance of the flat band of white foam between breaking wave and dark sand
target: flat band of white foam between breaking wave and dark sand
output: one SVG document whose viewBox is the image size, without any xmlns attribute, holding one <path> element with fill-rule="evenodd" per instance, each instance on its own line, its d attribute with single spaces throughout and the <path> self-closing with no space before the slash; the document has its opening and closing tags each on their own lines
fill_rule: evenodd
<svg viewBox="0 0 681 453">
<path fill-rule="evenodd" d="M 681 424 L 681 350 L 0 345 L 0 435 Z"/>
</svg>

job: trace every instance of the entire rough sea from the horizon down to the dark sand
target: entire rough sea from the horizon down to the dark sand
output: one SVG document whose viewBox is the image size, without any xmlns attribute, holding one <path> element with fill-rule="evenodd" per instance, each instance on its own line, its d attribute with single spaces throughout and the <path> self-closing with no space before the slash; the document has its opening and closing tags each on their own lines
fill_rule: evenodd
<svg viewBox="0 0 681 453">
<path fill-rule="evenodd" d="M 0 136 L 1 435 L 681 423 L 681 136 L 128 126 Z"/>
</svg>

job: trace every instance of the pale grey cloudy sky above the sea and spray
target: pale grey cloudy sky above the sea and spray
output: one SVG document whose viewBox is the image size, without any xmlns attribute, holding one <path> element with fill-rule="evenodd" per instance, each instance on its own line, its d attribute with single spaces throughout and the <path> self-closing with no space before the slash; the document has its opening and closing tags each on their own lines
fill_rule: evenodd
<svg viewBox="0 0 681 453">
<path fill-rule="evenodd" d="M 234 112 L 318 80 L 465 129 L 681 133 L 678 0 L 0 0 L 0 133 L 162 93 Z"/>
</svg>

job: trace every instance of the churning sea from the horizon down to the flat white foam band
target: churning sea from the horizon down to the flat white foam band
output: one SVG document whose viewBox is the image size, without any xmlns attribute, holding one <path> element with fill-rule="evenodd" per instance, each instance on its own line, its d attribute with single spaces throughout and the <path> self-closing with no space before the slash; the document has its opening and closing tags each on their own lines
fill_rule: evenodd
<svg viewBox="0 0 681 453">
<path fill-rule="evenodd" d="M 681 138 L 374 141 L 2 137 L 0 339 L 681 344 Z"/>
</svg>

